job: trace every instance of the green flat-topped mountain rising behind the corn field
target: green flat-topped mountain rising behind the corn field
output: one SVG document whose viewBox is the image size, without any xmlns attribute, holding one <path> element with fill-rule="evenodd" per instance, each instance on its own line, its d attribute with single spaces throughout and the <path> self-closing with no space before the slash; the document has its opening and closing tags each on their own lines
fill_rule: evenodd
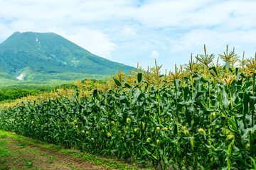
<svg viewBox="0 0 256 170">
<path fill-rule="evenodd" d="M 0 74 L 24 80 L 100 78 L 135 69 L 93 55 L 55 33 L 16 32 L 0 44 Z"/>
</svg>

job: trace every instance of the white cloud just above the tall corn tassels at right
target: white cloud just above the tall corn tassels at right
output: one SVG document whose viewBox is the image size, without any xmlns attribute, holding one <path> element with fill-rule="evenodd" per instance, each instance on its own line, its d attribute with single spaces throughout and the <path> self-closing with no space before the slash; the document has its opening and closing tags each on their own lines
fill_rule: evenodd
<svg viewBox="0 0 256 170">
<path fill-rule="evenodd" d="M 193 50 L 202 48 L 206 44 L 211 50 L 218 50 L 225 45 L 256 44 L 256 30 L 191 30 L 181 38 L 171 41 L 171 51 Z"/>
</svg>

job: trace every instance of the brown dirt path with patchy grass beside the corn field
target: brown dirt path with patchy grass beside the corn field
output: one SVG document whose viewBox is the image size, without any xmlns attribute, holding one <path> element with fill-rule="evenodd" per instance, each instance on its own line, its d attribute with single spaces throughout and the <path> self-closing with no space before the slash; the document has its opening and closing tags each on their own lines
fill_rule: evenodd
<svg viewBox="0 0 256 170">
<path fill-rule="evenodd" d="M 0 169 L 113 169 L 0 133 Z"/>
</svg>

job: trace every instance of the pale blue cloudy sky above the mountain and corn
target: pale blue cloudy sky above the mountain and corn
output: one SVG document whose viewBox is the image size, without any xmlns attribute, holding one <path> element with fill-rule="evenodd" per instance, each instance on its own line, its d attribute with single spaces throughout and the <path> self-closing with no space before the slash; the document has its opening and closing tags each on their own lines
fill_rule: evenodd
<svg viewBox="0 0 256 170">
<path fill-rule="evenodd" d="M 0 43 L 12 33 L 57 33 L 100 57 L 142 68 L 191 54 L 256 52 L 255 0 L 0 0 Z M 164 71 L 165 72 L 165 71 Z"/>
</svg>

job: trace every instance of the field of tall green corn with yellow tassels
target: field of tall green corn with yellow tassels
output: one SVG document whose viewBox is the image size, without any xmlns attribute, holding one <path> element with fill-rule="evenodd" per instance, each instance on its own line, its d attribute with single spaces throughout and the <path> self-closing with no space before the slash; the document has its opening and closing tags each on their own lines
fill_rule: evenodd
<svg viewBox="0 0 256 170">
<path fill-rule="evenodd" d="M 256 169 L 255 58 L 197 55 L 174 72 L 74 81 L 73 96 L 0 110 L 0 128 L 151 169 Z"/>
</svg>

